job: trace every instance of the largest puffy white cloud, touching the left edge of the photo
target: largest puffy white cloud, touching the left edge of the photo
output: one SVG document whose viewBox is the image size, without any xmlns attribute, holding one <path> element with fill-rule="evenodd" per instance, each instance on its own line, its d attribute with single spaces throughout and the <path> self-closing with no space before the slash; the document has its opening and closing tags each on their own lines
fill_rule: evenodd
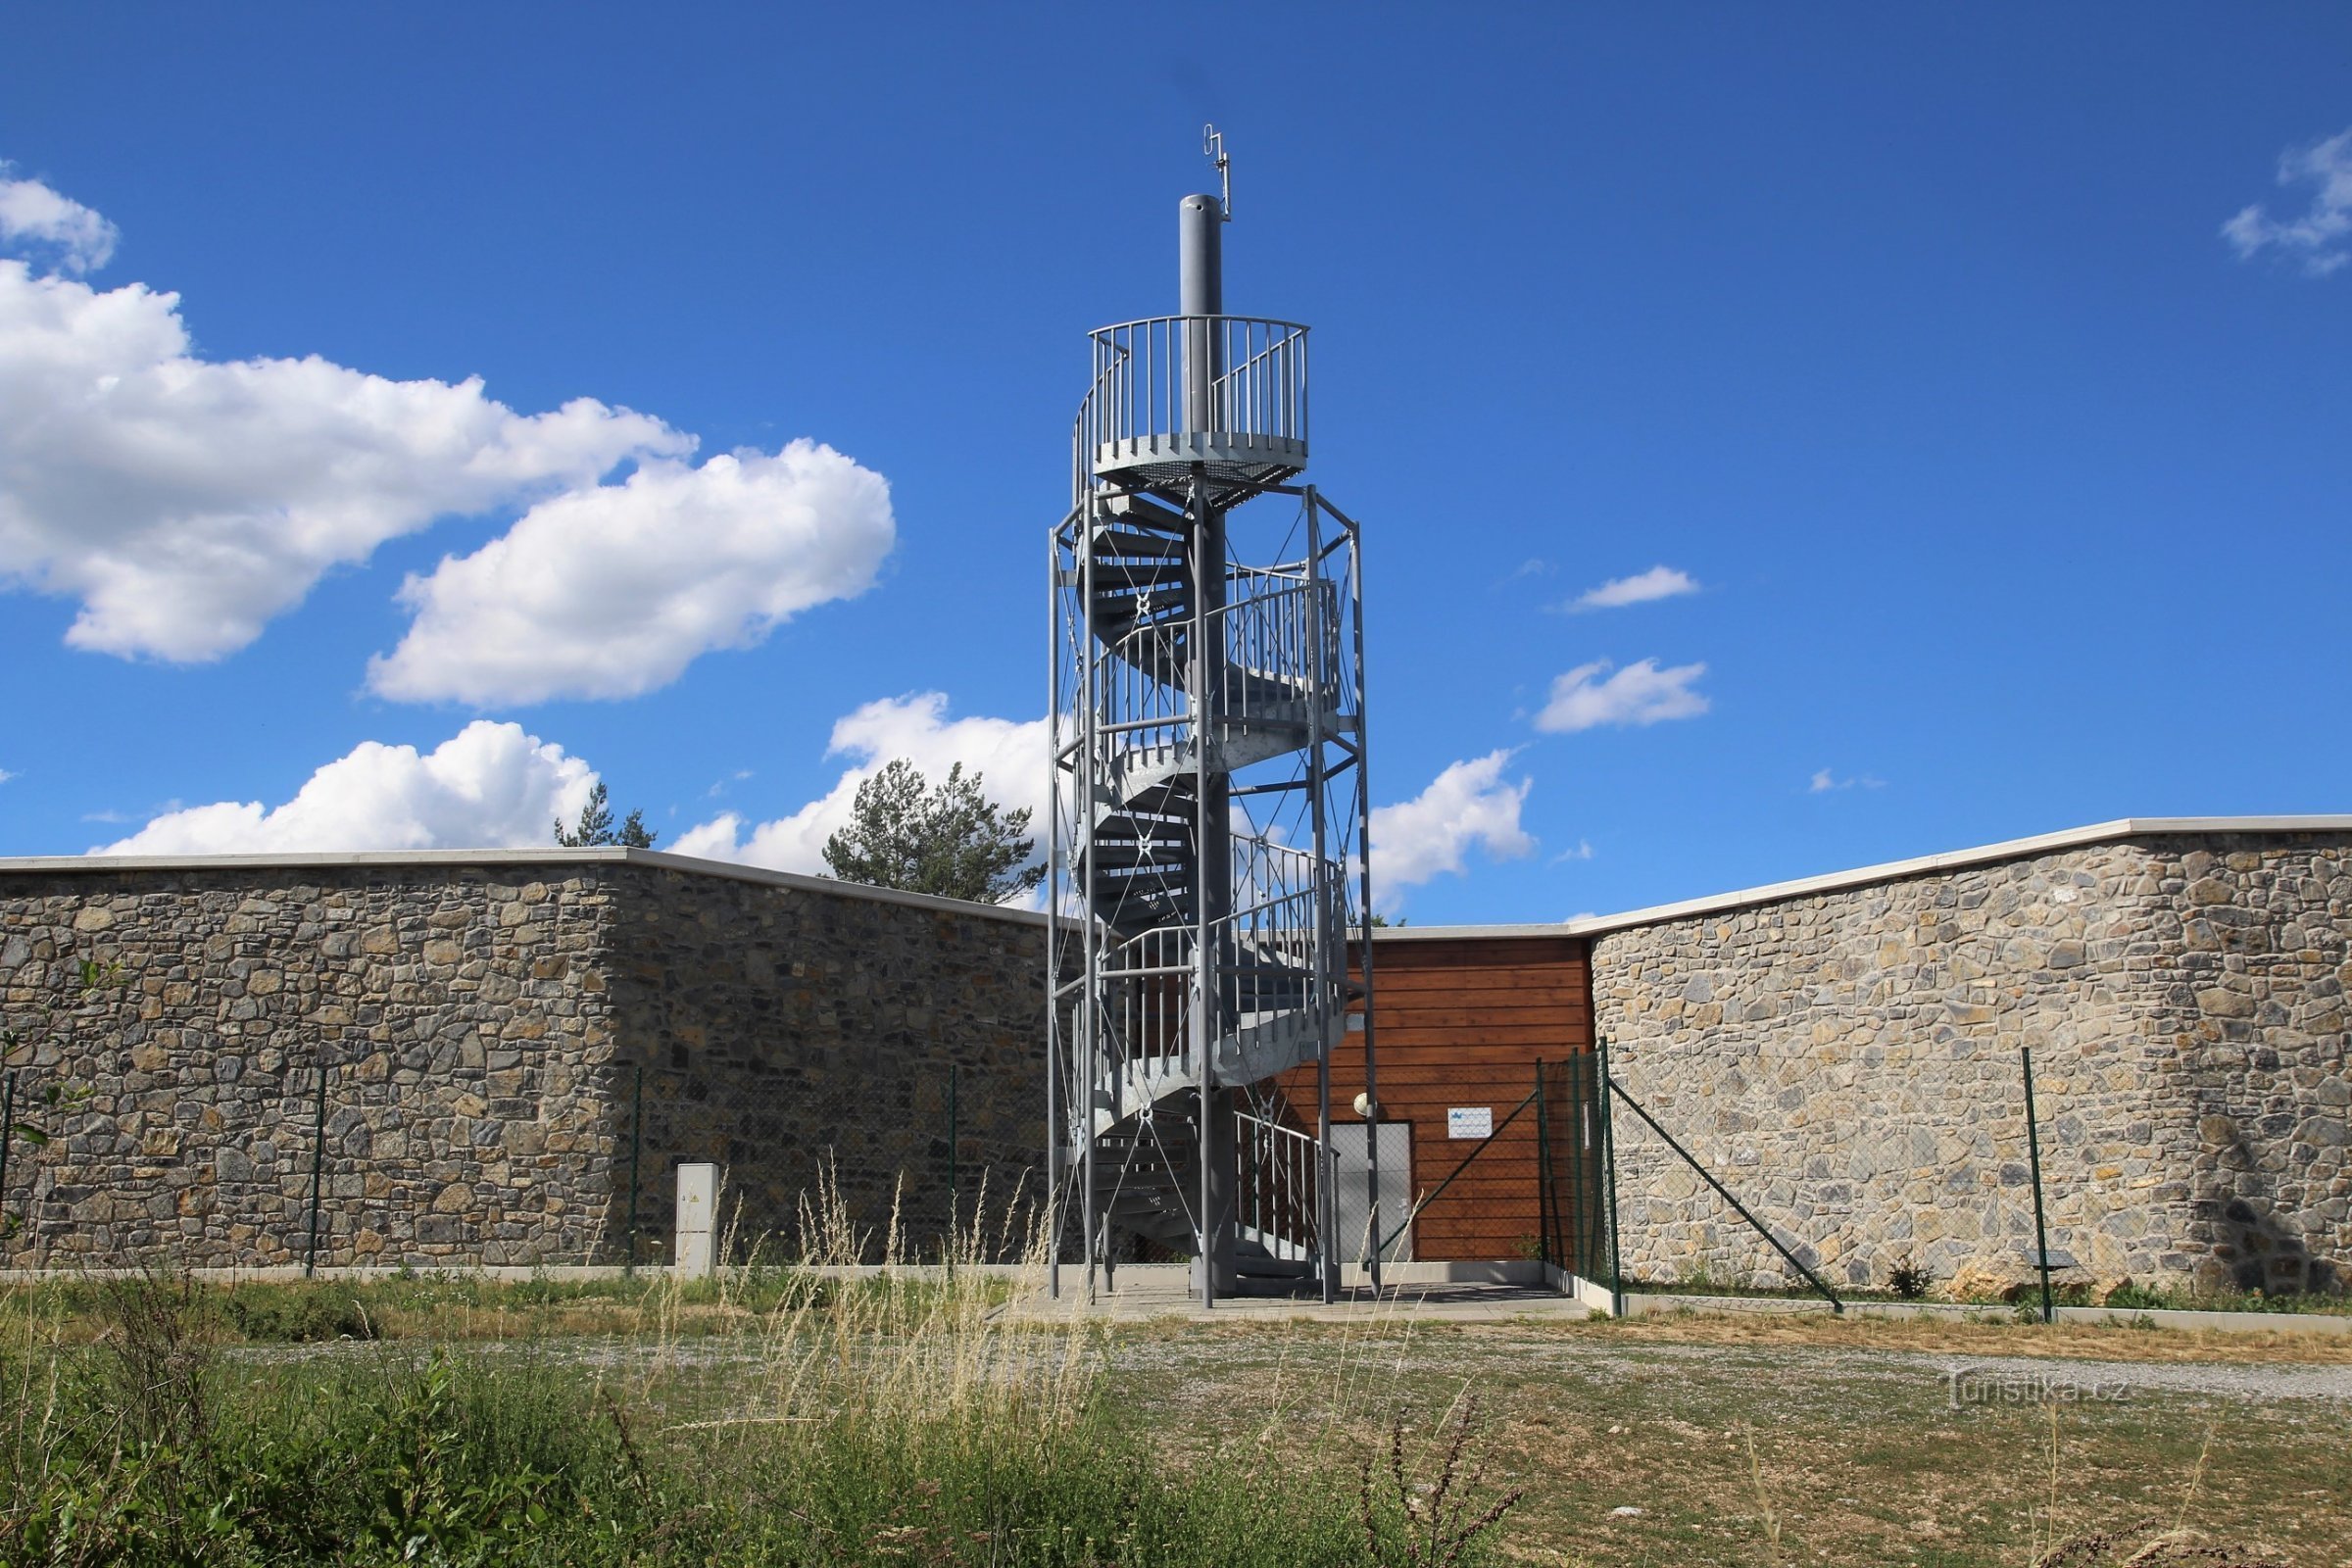
<svg viewBox="0 0 2352 1568">
<path fill-rule="evenodd" d="M 221 658 L 388 538 L 691 447 L 588 397 L 200 360 L 176 294 L 0 261 L 0 581 L 78 597 L 78 649 Z"/>
</svg>

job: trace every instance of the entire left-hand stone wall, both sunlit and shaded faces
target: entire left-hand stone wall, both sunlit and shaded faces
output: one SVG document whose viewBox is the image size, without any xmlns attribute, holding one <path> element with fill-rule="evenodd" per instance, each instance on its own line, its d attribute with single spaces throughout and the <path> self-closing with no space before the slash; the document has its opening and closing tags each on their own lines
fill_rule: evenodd
<svg viewBox="0 0 2352 1568">
<path fill-rule="evenodd" d="M 826 1150 L 863 1225 L 906 1178 L 922 1244 L 948 1063 L 967 1190 L 1035 1164 L 1035 917 L 642 851 L 374 860 L 0 867 L 16 1117 L 52 1135 L 12 1143 L 0 1262 L 301 1262 L 315 1152 L 322 1267 L 659 1260 L 680 1159 L 729 1168 L 748 1239 Z"/>
</svg>

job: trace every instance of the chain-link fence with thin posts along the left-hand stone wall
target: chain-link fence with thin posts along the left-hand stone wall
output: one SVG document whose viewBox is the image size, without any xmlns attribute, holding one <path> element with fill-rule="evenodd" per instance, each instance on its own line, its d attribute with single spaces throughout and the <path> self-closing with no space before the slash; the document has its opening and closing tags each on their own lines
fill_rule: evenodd
<svg viewBox="0 0 2352 1568">
<path fill-rule="evenodd" d="M 814 1060 L 811 1060 L 814 1056 Z M 875 1053 L 887 1058 L 887 1053 Z M 73 1063 L 0 1077 L 7 1267 L 656 1265 L 677 1168 L 720 1175 L 722 1258 L 936 1258 L 985 1227 L 1018 1251 L 1035 1199 L 1016 1133 L 1035 1084 L 990 1065 L 776 1053 L 579 1072 L 480 1053 L 219 1056 L 94 1091 Z M 223 1081 L 226 1079 L 226 1081 Z M 1009 1135 L 1014 1133 L 1014 1135 Z"/>
</svg>

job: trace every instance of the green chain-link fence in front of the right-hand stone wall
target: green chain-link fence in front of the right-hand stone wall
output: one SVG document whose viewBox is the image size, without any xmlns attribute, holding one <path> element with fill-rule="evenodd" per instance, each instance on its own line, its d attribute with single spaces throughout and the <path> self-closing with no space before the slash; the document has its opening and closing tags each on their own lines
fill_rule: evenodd
<svg viewBox="0 0 2352 1568">
<path fill-rule="evenodd" d="M 2296 1225 L 2192 1199 L 2145 1091 L 2084 1056 L 1959 1053 L 1924 1072 L 1597 1053 L 1541 1067 L 1545 1260 L 1625 1293 L 2150 1302 L 2340 1291 Z M 1867 1063 L 1889 1067 L 1889 1063 Z M 1900 1067 L 1900 1063 L 1893 1063 Z M 2218 1143 L 2218 1117 L 2201 1135 Z M 2178 1131 L 2173 1133 L 2178 1135 Z M 2237 1166 L 2258 1175 L 2239 1150 Z M 2216 1147 L 2209 1180 L 2230 1171 Z"/>
</svg>

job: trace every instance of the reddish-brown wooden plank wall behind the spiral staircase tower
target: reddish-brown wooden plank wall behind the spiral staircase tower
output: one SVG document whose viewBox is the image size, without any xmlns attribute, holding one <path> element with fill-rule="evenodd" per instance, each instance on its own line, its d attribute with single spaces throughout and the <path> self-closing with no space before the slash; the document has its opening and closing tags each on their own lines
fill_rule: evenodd
<svg viewBox="0 0 2352 1568">
<path fill-rule="evenodd" d="M 1573 936 L 1411 938 L 1374 952 L 1381 1105 L 1414 1128 L 1414 1187 L 1432 1190 L 1475 1143 L 1446 1138 L 1446 1110 L 1486 1105 L 1494 1121 L 1536 1086 L 1536 1060 L 1592 1048 L 1588 947 Z M 1315 1072 L 1284 1079 L 1312 1126 Z M 1331 1117 L 1355 1119 L 1364 1037 L 1331 1058 Z M 1519 1258 L 1541 1229 L 1536 1112 L 1529 1107 L 1414 1227 L 1423 1260 Z"/>
</svg>

